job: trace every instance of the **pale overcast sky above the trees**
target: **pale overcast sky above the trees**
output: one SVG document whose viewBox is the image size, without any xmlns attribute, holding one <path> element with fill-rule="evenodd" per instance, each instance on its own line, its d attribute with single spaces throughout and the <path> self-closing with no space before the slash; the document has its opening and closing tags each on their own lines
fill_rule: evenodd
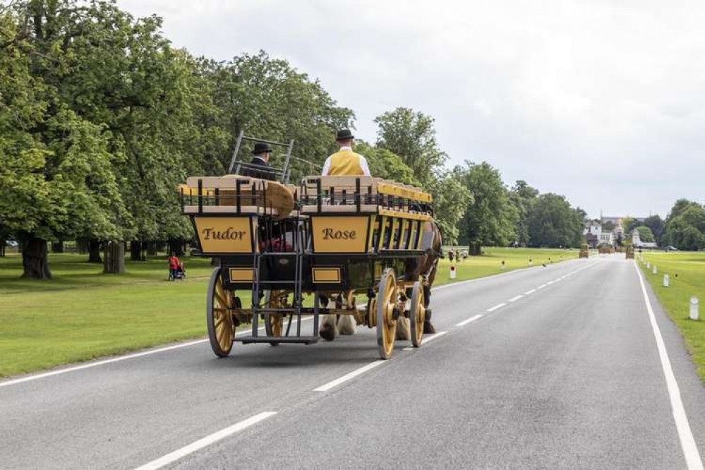
<svg viewBox="0 0 705 470">
<path fill-rule="evenodd" d="M 487 160 L 593 217 L 704 201 L 703 1 L 118 4 L 196 55 L 289 60 L 366 140 L 394 107 L 430 114 L 449 164 Z"/>
</svg>

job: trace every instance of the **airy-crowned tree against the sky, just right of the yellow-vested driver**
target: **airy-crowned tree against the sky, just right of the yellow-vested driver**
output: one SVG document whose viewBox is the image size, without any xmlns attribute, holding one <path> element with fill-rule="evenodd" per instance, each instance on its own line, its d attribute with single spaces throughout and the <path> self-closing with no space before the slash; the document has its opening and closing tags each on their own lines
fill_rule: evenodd
<svg viewBox="0 0 705 470">
<path fill-rule="evenodd" d="M 418 181 L 426 184 L 445 163 L 447 155 L 435 138 L 434 119 L 410 108 L 399 107 L 375 118 L 377 146 L 402 157 Z"/>
</svg>

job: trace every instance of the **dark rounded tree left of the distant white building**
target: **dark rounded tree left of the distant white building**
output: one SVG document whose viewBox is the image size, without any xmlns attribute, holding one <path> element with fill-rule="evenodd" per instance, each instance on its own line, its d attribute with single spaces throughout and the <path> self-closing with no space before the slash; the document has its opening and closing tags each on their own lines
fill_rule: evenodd
<svg viewBox="0 0 705 470">
<path fill-rule="evenodd" d="M 532 246 L 579 246 L 583 240 L 585 212 L 570 207 L 565 196 L 546 193 L 531 205 L 526 223 Z"/>
</svg>

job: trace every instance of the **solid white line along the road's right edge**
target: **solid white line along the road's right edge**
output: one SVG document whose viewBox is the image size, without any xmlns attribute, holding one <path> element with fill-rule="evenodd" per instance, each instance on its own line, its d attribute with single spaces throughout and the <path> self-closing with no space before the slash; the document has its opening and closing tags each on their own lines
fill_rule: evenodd
<svg viewBox="0 0 705 470">
<path fill-rule="evenodd" d="M 690 430 L 688 416 L 685 414 L 685 406 L 683 406 L 682 399 L 680 398 L 680 388 L 678 387 L 678 382 L 675 380 L 675 374 L 673 373 L 673 368 L 671 367 L 670 360 L 668 359 L 668 352 L 665 349 L 665 343 L 663 342 L 663 337 L 661 336 L 661 330 L 658 328 L 658 323 L 656 323 L 656 316 L 653 315 L 653 308 L 651 308 L 649 294 L 646 293 L 644 277 L 641 276 L 637 263 L 634 263 L 634 269 L 637 270 L 637 275 L 639 276 L 641 294 L 644 295 L 644 303 L 646 303 L 646 311 L 649 313 L 649 321 L 651 322 L 653 337 L 656 338 L 658 358 L 661 359 L 661 368 L 663 369 L 663 375 L 668 387 L 670 407 L 673 411 L 673 420 L 675 421 L 675 428 L 678 431 L 678 438 L 680 438 L 680 447 L 682 447 L 683 450 L 685 463 L 687 464 L 689 470 L 703 470 L 703 462 L 700 458 L 698 447 L 695 444 L 692 430 Z"/>
</svg>

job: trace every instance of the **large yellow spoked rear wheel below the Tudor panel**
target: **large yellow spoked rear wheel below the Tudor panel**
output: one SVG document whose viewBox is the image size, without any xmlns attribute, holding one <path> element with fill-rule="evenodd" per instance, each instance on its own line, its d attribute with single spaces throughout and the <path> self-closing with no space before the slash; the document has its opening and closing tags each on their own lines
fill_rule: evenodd
<svg viewBox="0 0 705 470">
<path fill-rule="evenodd" d="M 210 275 L 206 299 L 206 323 L 210 347 L 216 356 L 225 357 L 233 348 L 235 325 L 232 317 L 233 296 L 224 289 L 220 267 Z"/>
</svg>

